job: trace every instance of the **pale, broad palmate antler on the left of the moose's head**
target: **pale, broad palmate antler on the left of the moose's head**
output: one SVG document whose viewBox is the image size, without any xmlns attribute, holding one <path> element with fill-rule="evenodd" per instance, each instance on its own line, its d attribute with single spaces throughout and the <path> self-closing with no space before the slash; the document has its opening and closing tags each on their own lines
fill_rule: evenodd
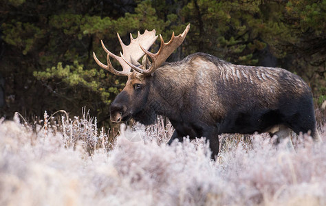
<svg viewBox="0 0 326 206">
<path fill-rule="evenodd" d="M 140 32 L 138 32 L 138 36 L 135 39 L 130 34 L 130 44 L 124 45 L 118 33 L 117 35 L 123 52 L 123 54 L 120 52 L 121 57 L 111 53 L 105 47 L 103 41 L 101 40 L 102 47 L 105 52 L 107 52 L 107 65 L 103 64 L 102 62 L 100 62 L 100 60 L 98 60 L 95 55 L 95 52 L 93 52 L 94 60 L 96 61 L 98 66 L 102 67 L 103 69 L 106 69 L 107 71 L 110 71 L 113 74 L 116 74 L 118 76 L 128 76 L 131 70 L 131 66 L 127 62 L 137 62 L 144 55 L 144 48 L 149 49 L 149 47 L 151 47 L 151 45 L 153 45 L 153 43 L 156 41 L 157 36 L 155 36 L 155 30 L 152 30 L 151 32 L 145 30 L 144 34 L 140 34 Z M 139 45 L 142 45 L 143 47 L 140 47 Z M 122 71 L 118 71 L 113 68 L 110 56 L 111 58 L 118 60 L 122 67 Z"/>
</svg>

